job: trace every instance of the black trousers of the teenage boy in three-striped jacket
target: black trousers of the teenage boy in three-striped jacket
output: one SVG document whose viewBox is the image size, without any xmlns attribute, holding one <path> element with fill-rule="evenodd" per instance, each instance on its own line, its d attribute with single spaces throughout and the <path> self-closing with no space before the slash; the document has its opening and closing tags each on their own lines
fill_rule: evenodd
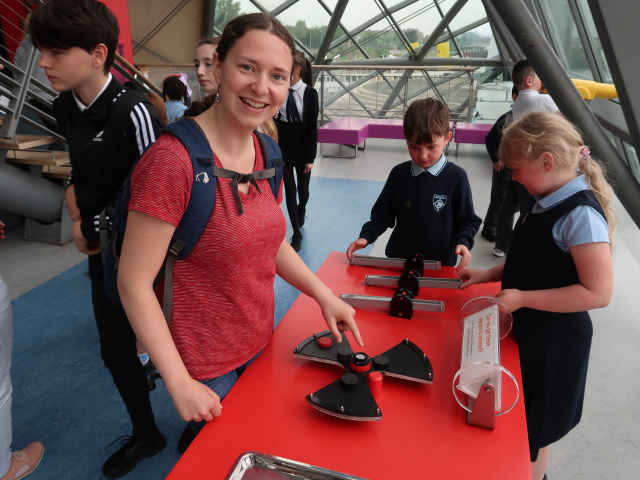
<svg viewBox="0 0 640 480">
<path fill-rule="evenodd" d="M 89 256 L 91 300 L 100 337 L 100 354 L 127 407 L 133 434 L 155 436 L 156 427 L 147 376 L 136 352 L 136 336 L 124 310 L 113 305 L 104 292 L 102 258 Z"/>
</svg>

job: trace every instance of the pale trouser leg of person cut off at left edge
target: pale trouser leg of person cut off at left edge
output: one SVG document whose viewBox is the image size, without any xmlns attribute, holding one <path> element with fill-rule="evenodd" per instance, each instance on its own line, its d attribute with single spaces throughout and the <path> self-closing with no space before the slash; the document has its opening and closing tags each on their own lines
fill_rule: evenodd
<svg viewBox="0 0 640 480">
<path fill-rule="evenodd" d="M 11 350 L 13 316 L 7 285 L 0 276 L 0 477 L 11 466 Z"/>
</svg>

